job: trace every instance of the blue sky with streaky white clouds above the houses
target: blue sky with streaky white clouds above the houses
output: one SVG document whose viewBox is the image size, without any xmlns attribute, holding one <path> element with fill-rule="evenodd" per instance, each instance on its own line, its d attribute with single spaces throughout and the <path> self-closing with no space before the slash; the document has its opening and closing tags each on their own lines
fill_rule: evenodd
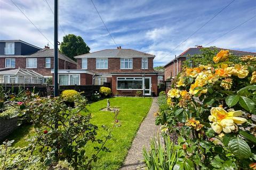
<svg viewBox="0 0 256 170">
<path fill-rule="evenodd" d="M 12 1 L 53 43 L 53 14 L 46 3 L 53 10 L 53 0 Z M 12 1 L 0 0 L 0 39 L 20 39 L 38 47 L 49 43 L 53 48 Z M 232 1 L 93 0 L 114 44 L 91 0 L 59 0 L 59 41 L 73 33 L 84 39 L 90 52 L 117 46 L 140 50 L 156 55 L 154 66 L 166 64 L 189 47 L 205 47 L 220 36 L 207 46 L 256 52 L 256 17 L 222 36 L 256 15 L 255 0 L 235 0 L 182 43 Z"/>
</svg>

